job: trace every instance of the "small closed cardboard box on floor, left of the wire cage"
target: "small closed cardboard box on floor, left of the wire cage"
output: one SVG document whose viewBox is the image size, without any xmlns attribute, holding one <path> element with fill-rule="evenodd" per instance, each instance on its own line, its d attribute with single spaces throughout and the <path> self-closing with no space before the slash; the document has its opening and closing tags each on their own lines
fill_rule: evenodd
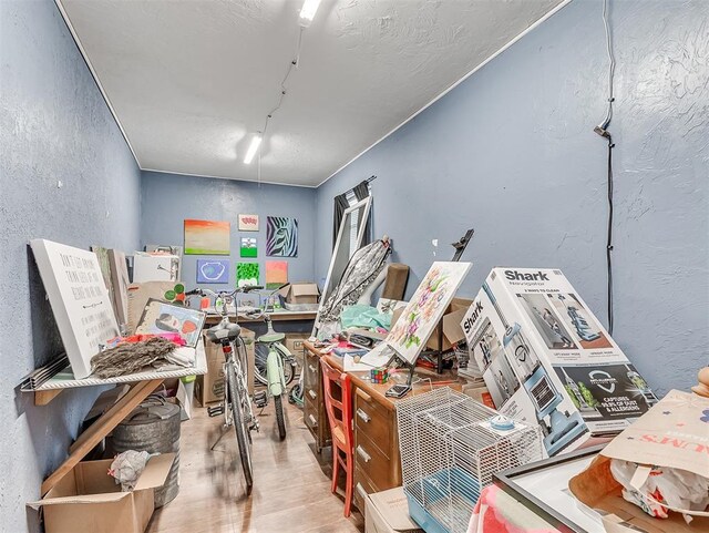
<svg viewBox="0 0 709 533">
<path fill-rule="evenodd" d="M 423 533 L 409 516 L 409 503 L 401 486 L 369 494 L 366 506 L 366 533 Z"/>
</svg>

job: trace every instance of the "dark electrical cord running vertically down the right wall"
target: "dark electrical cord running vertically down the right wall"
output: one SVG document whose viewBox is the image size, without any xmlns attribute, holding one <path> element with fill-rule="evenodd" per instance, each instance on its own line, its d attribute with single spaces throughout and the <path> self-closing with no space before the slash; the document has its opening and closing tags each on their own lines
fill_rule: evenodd
<svg viewBox="0 0 709 533">
<path fill-rule="evenodd" d="M 603 25 L 606 31 L 606 52 L 608 53 L 608 110 L 606 112 L 605 120 L 594 127 L 602 137 L 608 141 L 608 227 L 606 234 L 606 269 L 607 269 L 607 304 L 608 304 L 608 332 L 613 335 L 613 148 L 615 144 L 613 142 L 613 135 L 608 131 L 610 121 L 613 120 L 613 102 L 615 101 L 613 95 L 613 81 L 616 71 L 616 59 L 613 54 L 613 39 L 610 35 L 610 27 L 608 24 L 608 1 L 603 1 Z"/>
</svg>

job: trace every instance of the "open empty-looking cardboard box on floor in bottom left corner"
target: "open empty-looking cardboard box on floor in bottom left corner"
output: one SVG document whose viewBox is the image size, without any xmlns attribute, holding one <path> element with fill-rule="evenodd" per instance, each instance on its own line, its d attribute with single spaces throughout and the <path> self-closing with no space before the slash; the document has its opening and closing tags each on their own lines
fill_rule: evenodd
<svg viewBox="0 0 709 533">
<path fill-rule="evenodd" d="M 43 508 L 47 533 L 143 533 L 155 508 L 154 489 L 165 483 L 174 459 L 174 453 L 152 458 L 133 492 L 121 492 L 107 474 L 112 459 L 80 462 L 28 505 Z"/>
</svg>

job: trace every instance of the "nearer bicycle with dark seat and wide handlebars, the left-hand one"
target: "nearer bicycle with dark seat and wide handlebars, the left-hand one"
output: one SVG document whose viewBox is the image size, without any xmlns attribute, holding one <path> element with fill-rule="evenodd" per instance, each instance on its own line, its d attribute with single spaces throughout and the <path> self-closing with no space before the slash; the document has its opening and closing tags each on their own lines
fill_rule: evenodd
<svg viewBox="0 0 709 533">
<path fill-rule="evenodd" d="M 236 306 L 238 293 L 249 293 L 263 287 L 240 287 L 230 293 L 215 293 L 209 289 L 196 288 L 185 293 L 189 296 L 210 296 L 215 298 L 215 308 L 222 315 L 222 320 L 216 326 L 206 330 L 206 337 L 210 342 L 222 346 L 224 353 L 224 399 L 220 406 L 207 408 L 209 417 L 224 414 L 224 431 L 210 448 L 214 450 L 219 441 L 234 426 L 236 442 L 239 449 L 239 459 L 244 479 L 246 480 L 246 493 L 250 494 L 254 486 L 254 468 L 251 464 L 251 431 L 258 431 L 258 419 L 251 410 L 251 400 L 248 394 L 246 381 L 247 357 L 244 340 L 240 337 L 242 328 L 238 324 L 229 321 L 227 301 L 233 299 Z M 186 303 L 187 304 L 187 303 Z M 219 308 L 220 307 L 220 308 Z M 235 349 L 236 348 L 236 349 Z"/>
</svg>

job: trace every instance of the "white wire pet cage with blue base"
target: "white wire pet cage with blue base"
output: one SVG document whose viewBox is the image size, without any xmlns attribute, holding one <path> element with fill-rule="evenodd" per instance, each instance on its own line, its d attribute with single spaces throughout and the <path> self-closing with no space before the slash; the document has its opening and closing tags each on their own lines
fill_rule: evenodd
<svg viewBox="0 0 709 533">
<path fill-rule="evenodd" d="M 495 472 L 543 457 L 537 424 L 525 426 L 448 387 L 397 402 L 403 488 L 427 533 L 464 533 Z"/>
</svg>

